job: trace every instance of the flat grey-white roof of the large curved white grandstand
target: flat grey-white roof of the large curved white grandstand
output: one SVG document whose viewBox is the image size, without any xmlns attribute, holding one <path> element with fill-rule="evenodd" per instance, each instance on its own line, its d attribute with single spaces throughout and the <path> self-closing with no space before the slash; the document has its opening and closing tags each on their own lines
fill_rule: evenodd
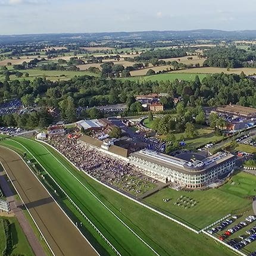
<svg viewBox="0 0 256 256">
<path fill-rule="evenodd" d="M 202 161 L 186 161 L 177 157 L 171 157 L 170 155 L 162 154 L 149 149 L 142 149 L 141 151 L 135 152 L 132 155 L 134 157 L 141 158 L 151 163 L 171 168 L 173 170 L 180 171 L 186 174 L 206 173 L 212 167 L 217 167 L 224 161 L 235 158 L 235 156 L 230 153 L 218 152 L 217 154 L 211 155 L 210 157 L 207 157 Z"/>
</svg>

